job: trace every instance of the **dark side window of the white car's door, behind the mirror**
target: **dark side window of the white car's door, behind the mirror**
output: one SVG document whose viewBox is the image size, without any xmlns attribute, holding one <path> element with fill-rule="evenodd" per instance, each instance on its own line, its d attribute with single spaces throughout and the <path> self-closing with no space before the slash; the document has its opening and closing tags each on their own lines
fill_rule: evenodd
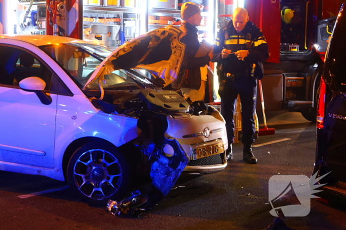
<svg viewBox="0 0 346 230">
<path fill-rule="evenodd" d="M 45 82 L 44 91 L 57 94 L 62 90 L 66 93 L 66 86 L 55 79 L 57 77 L 53 77 L 51 70 L 33 54 L 11 46 L 0 46 L 0 60 L 1 85 L 19 88 L 21 80 L 35 76 Z M 59 87 L 59 84 L 62 85 Z"/>
</svg>

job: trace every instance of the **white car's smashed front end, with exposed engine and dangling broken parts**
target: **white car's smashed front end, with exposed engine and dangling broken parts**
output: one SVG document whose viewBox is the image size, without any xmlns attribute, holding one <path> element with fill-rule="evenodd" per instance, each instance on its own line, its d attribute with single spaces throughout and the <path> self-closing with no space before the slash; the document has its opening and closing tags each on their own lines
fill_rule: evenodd
<svg viewBox="0 0 346 230">
<path fill-rule="evenodd" d="M 151 210 L 171 191 L 183 171 L 207 174 L 227 166 L 227 133 L 217 111 L 205 107 L 188 113 L 186 101 L 171 91 L 142 90 L 139 98 L 150 109 L 134 111 L 142 133 L 133 143 L 147 158 L 150 189 L 142 188 L 120 202 L 110 200 L 108 210 L 115 215 Z M 138 206 L 142 197 L 147 200 Z"/>
</svg>

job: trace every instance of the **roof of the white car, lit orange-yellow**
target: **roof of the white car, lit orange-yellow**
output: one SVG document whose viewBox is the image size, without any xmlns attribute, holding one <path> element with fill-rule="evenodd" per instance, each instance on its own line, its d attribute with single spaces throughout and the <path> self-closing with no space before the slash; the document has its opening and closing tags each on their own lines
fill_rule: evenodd
<svg viewBox="0 0 346 230">
<path fill-rule="evenodd" d="M 35 46 L 61 44 L 69 42 L 89 43 L 80 39 L 52 35 L 39 35 L 39 34 L 0 34 L 0 39 L 12 39 L 25 41 Z"/>
</svg>

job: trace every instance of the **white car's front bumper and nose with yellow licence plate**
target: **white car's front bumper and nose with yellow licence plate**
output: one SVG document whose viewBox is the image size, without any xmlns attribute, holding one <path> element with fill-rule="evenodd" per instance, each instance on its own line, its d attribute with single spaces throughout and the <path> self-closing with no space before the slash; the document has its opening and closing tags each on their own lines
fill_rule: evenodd
<svg viewBox="0 0 346 230">
<path fill-rule="evenodd" d="M 217 111 L 215 113 L 219 114 Z M 227 166 L 227 133 L 221 119 L 210 115 L 182 114 L 168 116 L 167 121 L 165 136 L 175 138 L 189 157 L 184 172 L 208 174 Z"/>
</svg>

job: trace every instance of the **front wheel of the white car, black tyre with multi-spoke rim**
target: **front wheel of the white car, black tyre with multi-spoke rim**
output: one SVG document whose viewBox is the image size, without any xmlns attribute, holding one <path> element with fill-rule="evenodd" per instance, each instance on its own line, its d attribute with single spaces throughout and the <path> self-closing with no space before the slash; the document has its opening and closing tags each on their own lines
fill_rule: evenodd
<svg viewBox="0 0 346 230">
<path fill-rule="evenodd" d="M 104 205 L 108 199 L 121 198 L 129 180 L 125 157 L 104 141 L 92 141 L 78 148 L 67 166 L 71 190 L 92 205 Z"/>
</svg>

